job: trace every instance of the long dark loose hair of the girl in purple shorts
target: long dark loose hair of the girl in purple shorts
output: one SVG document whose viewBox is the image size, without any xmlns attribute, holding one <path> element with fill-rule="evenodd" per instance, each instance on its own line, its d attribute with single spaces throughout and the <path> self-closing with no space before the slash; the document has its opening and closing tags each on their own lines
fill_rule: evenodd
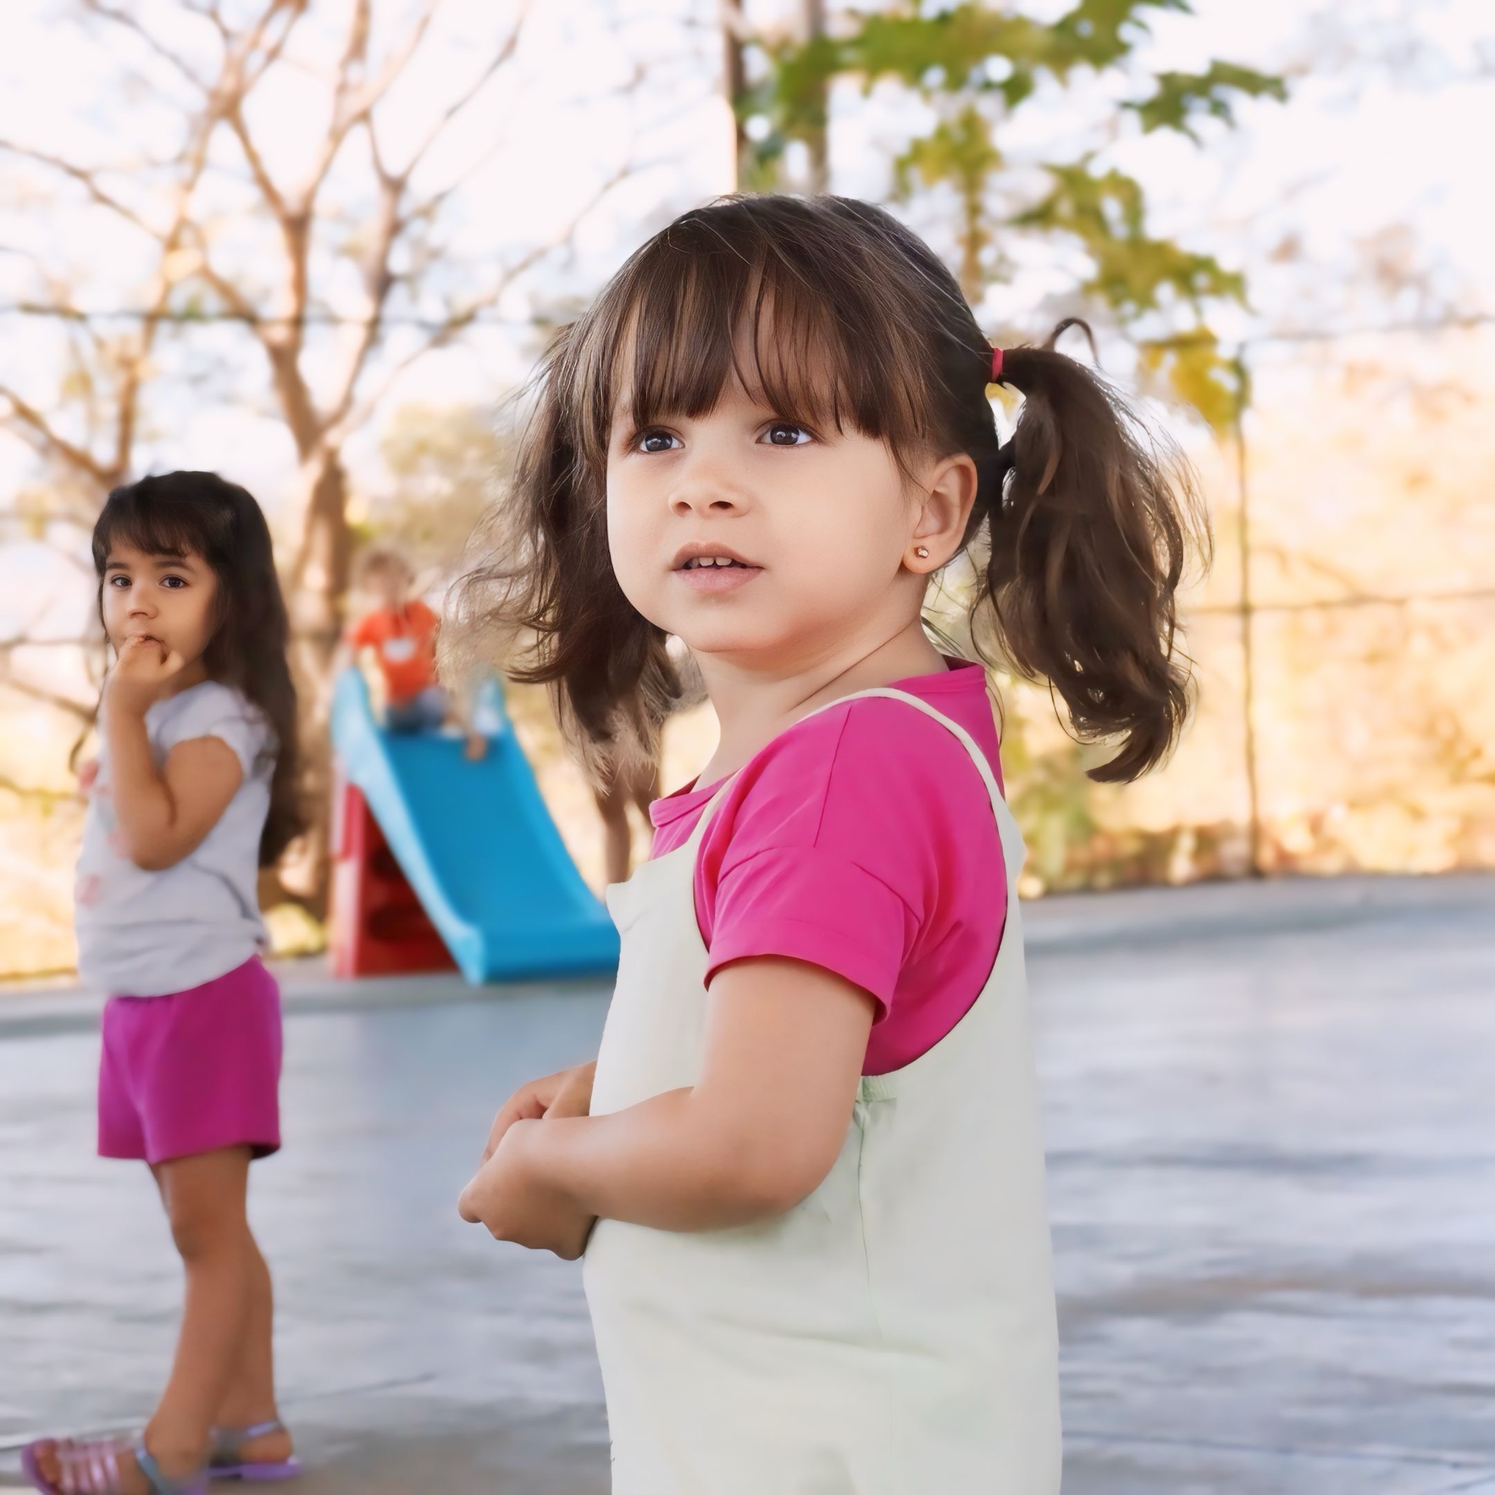
<svg viewBox="0 0 1495 1495">
<path fill-rule="evenodd" d="M 290 625 L 269 526 L 248 492 L 217 472 L 163 472 L 117 487 L 93 534 L 103 622 L 103 573 L 117 544 L 147 555 L 200 556 L 217 577 L 212 637 L 203 664 L 212 680 L 241 691 L 274 734 L 271 809 L 260 866 L 271 866 L 303 827 L 296 795 L 296 686 L 286 644 Z"/>
</svg>

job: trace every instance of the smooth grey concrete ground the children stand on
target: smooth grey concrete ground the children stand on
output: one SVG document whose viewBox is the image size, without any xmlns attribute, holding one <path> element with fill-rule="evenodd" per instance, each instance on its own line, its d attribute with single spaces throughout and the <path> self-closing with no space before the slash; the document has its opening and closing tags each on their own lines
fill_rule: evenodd
<svg viewBox="0 0 1495 1495">
<path fill-rule="evenodd" d="M 1495 1495 L 1495 879 L 1049 900 L 1030 951 L 1066 1495 Z M 253 1212 L 300 1488 L 604 1491 L 577 1268 L 454 1199 L 605 991 L 286 990 Z M 0 993 L 0 1485 L 138 1423 L 170 1353 L 150 1183 L 91 1156 L 94 1012 Z"/>
</svg>

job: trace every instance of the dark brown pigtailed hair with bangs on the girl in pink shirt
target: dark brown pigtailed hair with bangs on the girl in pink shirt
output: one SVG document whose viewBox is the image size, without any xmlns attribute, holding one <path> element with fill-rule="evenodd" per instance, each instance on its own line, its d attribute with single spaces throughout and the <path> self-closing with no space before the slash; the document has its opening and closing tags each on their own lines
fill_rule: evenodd
<svg viewBox="0 0 1495 1495">
<path fill-rule="evenodd" d="M 891 214 L 849 197 L 731 196 L 688 212 L 561 330 L 510 489 L 480 531 L 489 555 L 456 591 L 449 650 L 528 632 L 508 673 L 550 685 L 594 770 L 653 750 L 682 685 L 608 559 L 613 407 L 626 396 L 638 426 L 710 411 L 739 339 L 785 419 L 851 425 L 904 472 L 918 453 L 969 453 L 973 623 L 991 625 L 973 626 L 978 652 L 1049 680 L 1081 739 L 1120 740 L 1091 777 L 1135 779 L 1166 756 L 1189 710 L 1175 592 L 1206 534 L 1187 463 L 1054 338 L 1006 350 L 1002 383 L 1024 399 L 1002 444 L 991 345 L 954 277 Z"/>
</svg>

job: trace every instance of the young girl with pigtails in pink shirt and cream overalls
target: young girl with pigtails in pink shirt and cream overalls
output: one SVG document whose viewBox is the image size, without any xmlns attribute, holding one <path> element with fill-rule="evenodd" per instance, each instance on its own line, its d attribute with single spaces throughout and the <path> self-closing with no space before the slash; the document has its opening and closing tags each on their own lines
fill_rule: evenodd
<svg viewBox="0 0 1495 1495">
<path fill-rule="evenodd" d="M 969 556 L 973 637 L 1132 779 L 1187 712 L 1195 511 L 1097 375 L 993 348 L 849 199 L 686 214 L 546 357 L 469 644 L 531 629 L 601 771 L 653 750 L 670 635 L 721 719 L 610 890 L 595 1063 L 507 1102 L 460 1202 L 585 1250 L 620 1495 L 1058 1491 L 1023 843 L 922 607 Z"/>
</svg>

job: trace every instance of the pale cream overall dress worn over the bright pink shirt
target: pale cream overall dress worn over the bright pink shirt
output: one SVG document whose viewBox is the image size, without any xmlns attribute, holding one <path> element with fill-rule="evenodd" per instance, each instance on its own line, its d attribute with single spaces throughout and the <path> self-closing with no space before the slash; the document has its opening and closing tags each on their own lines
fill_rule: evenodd
<svg viewBox="0 0 1495 1495">
<path fill-rule="evenodd" d="M 900 691 L 860 695 L 931 716 L 981 771 L 1008 867 L 1002 949 L 949 1035 L 863 1078 L 836 1165 L 788 1214 L 698 1233 L 598 1221 L 583 1278 L 614 1495 L 1058 1491 L 1023 842 L 961 727 Z M 707 952 L 694 872 L 719 801 L 685 846 L 610 891 L 622 961 L 594 1115 L 697 1079 Z"/>
</svg>

